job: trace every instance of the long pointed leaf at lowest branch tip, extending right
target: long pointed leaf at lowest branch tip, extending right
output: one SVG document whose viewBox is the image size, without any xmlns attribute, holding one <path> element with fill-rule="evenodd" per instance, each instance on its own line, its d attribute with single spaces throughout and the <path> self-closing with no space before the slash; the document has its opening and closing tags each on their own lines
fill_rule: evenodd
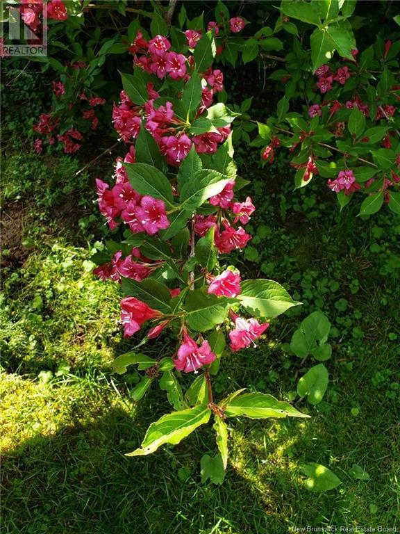
<svg viewBox="0 0 400 534">
<path fill-rule="evenodd" d="M 226 417 L 240 415 L 249 419 L 267 419 L 269 417 L 310 417 L 296 410 L 289 403 L 278 401 L 265 393 L 244 393 L 231 398 L 225 406 Z"/>
</svg>

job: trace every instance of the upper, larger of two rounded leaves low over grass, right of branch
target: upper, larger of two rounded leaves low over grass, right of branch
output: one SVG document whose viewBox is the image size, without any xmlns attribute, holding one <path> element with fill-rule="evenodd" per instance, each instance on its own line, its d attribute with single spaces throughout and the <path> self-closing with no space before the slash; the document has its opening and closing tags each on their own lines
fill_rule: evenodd
<svg viewBox="0 0 400 534">
<path fill-rule="evenodd" d="M 331 323 L 322 312 L 313 312 L 306 317 L 294 332 L 290 349 L 295 355 L 305 358 L 317 348 L 317 341 L 322 345 L 328 339 Z"/>
</svg>

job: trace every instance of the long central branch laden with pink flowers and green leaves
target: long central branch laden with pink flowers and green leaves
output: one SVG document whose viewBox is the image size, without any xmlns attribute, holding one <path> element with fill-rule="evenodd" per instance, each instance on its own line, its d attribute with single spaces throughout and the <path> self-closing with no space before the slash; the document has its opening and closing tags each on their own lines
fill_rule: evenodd
<svg viewBox="0 0 400 534">
<path fill-rule="evenodd" d="M 215 33 L 211 26 L 198 40 L 190 33 L 173 46 L 163 35 L 147 40 L 138 31 L 133 74 L 122 74 L 124 90 L 113 111 L 128 151 L 124 161 L 117 159 L 113 186 L 97 180 L 99 209 L 110 229 L 126 225 L 124 241 L 108 242 L 107 252 L 93 260 L 95 274 L 122 285 L 125 337 L 144 330 L 141 346 L 169 329 L 176 338 L 164 357 L 153 359 L 137 346 L 115 359 L 119 373 L 132 364 L 143 371 L 133 398 L 159 380 L 175 410 L 151 424 L 131 455 L 177 444 L 213 415 L 215 461 L 224 469 L 226 418 L 306 415 L 267 394 L 240 389 L 217 400 L 213 393 L 212 377 L 229 350 L 256 347 L 269 320 L 299 305 L 277 282 L 242 280 L 224 257 L 251 239 L 244 227 L 255 207 L 241 193 L 247 181 L 233 161 L 237 114 L 214 102 L 224 79 L 213 69 Z M 194 375 L 185 393 L 181 373 Z"/>
</svg>

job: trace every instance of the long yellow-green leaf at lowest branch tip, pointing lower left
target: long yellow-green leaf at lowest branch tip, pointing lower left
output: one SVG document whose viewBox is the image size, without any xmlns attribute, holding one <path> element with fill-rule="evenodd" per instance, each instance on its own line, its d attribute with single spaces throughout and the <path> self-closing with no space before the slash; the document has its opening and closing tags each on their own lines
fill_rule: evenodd
<svg viewBox="0 0 400 534">
<path fill-rule="evenodd" d="M 142 445 L 126 456 L 144 456 L 153 453 L 165 443 L 178 444 L 197 427 L 208 423 L 211 410 L 194 406 L 188 410 L 163 415 L 147 429 Z"/>
</svg>

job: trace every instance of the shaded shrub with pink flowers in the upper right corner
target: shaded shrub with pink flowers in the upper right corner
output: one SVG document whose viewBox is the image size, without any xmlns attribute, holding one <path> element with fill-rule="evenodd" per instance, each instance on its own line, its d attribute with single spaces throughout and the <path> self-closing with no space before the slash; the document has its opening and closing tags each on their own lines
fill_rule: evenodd
<svg viewBox="0 0 400 534">
<path fill-rule="evenodd" d="M 354 194 L 364 194 L 360 215 L 375 213 L 384 202 L 400 213 L 400 40 L 378 37 L 358 51 L 348 22 L 355 5 L 281 3 L 276 29 L 292 24 L 296 35 L 292 19 L 313 25 L 311 53 L 295 40 L 284 58 L 285 69 L 272 74 L 285 83 L 285 96 L 277 117 L 258 124 L 253 145 L 263 147 L 261 158 L 267 163 L 273 163 L 277 147 L 289 148 L 296 188 L 320 176 L 338 195 L 341 208 Z M 342 58 L 326 63 L 335 51 Z M 296 111 L 290 111 L 290 99 L 298 99 Z"/>
</svg>

